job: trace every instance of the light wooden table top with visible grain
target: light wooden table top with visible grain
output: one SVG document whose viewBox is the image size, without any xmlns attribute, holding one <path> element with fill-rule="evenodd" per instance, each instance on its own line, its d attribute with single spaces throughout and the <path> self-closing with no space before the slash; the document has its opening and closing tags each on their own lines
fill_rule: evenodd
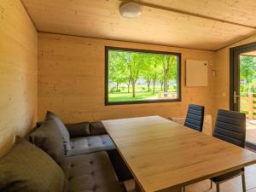
<svg viewBox="0 0 256 192">
<path fill-rule="evenodd" d="M 159 116 L 102 123 L 145 192 L 175 189 L 256 163 L 256 153 Z"/>
</svg>

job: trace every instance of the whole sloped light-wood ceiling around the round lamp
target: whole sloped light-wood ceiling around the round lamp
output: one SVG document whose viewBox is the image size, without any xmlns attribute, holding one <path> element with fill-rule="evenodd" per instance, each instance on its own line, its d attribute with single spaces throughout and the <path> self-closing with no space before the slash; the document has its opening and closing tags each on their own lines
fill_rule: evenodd
<svg viewBox="0 0 256 192">
<path fill-rule="evenodd" d="M 255 0 L 143 0 L 137 19 L 120 0 L 22 0 L 39 32 L 221 49 L 256 32 Z"/>
</svg>

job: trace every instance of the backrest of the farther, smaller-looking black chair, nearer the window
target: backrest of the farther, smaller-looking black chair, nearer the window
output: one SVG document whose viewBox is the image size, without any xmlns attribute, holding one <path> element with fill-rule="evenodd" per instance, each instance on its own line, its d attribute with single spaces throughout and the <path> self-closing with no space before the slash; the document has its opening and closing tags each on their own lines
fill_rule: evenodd
<svg viewBox="0 0 256 192">
<path fill-rule="evenodd" d="M 204 124 L 204 115 L 204 106 L 189 104 L 188 113 L 184 125 L 196 131 L 202 131 L 202 127 Z"/>
</svg>

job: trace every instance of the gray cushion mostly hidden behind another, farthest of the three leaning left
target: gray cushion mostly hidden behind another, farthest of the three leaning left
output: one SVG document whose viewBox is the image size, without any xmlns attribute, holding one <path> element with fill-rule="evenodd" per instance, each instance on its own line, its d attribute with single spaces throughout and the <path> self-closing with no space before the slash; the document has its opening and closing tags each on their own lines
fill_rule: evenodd
<svg viewBox="0 0 256 192">
<path fill-rule="evenodd" d="M 53 119 L 58 126 L 59 130 L 61 131 L 62 139 L 63 139 L 63 145 L 64 145 L 64 150 L 65 153 L 67 153 L 68 150 L 70 150 L 70 135 L 69 132 L 67 131 L 67 127 L 63 124 L 61 119 L 55 115 L 55 113 L 52 112 L 47 112 L 45 119 Z"/>
</svg>

